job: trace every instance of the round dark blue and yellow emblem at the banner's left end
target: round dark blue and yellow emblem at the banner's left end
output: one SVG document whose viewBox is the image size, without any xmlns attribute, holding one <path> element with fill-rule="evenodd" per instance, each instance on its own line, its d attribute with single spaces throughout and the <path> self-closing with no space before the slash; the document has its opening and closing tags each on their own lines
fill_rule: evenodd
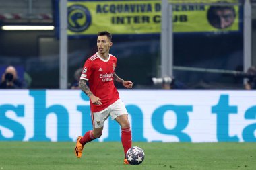
<svg viewBox="0 0 256 170">
<path fill-rule="evenodd" d="M 68 9 L 68 28 L 72 32 L 84 32 L 90 26 L 92 17 L 84 5 L 72 5 Z"/>
</svg>

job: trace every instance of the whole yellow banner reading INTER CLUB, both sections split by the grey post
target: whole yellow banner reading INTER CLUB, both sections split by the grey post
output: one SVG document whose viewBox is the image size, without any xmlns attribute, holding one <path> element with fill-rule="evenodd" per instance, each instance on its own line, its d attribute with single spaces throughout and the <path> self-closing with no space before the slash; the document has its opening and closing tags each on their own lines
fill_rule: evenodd
<svg viewBox="0 0 256 170">
<path fill-rule="evenodd" d="M 161 32 L 161 1 L 69 1 L 67 6 L 67 33 L 72 36 L 102 30 L 113 34 Z M 228 13 L 209 5 L 172 5 L 174 32 L 236 31 L 238 6 L 230 7 L 223 9 L 232 11 Z M 226 26 L 220 26 L 225 22 Z"/>
</svg>

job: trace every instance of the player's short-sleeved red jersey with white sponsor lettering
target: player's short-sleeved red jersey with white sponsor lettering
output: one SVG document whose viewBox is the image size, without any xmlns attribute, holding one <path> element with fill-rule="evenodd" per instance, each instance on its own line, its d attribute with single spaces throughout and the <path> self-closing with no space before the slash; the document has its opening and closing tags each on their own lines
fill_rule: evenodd
<svg viewBox="0 0 256 170">
<path fill-rule="evenodd" d="M 117 58 L 108 54 L 108 59 L 104 60 L 98 52 L 88 58 L 84 63 L 84 68 L 80 79 L 89 82 L 90 91 L 101 100 L 102 105 L 94 105 L 90 101 L 92 112 L 100 112 L 119 99 L 119 93 L 114 85 L 113 75 L 117 67 Z"/>
</svg>

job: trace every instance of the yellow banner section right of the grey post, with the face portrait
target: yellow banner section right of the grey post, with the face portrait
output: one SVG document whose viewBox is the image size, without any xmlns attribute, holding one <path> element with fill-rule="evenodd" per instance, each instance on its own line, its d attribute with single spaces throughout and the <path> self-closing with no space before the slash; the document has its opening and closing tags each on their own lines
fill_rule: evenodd
<svg viewBox="0 0 256 170">
<path fill-rule="evenodd" d="M 173 5 L 174 32 L 239 30 L 238 6 Z"/>
</svg>

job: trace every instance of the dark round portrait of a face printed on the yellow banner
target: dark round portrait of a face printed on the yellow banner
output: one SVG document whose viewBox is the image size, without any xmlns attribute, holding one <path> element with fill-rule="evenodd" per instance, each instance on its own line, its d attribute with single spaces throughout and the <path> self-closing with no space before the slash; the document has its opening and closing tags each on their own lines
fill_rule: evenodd
<svg viewBox="0 0 256 170">
<path fill-rule="evenodd" d="M 207 12 L 207 19 L 214 28 L 228 28 L 235 18 L 236 12 L 232 6 L 212 6 Z"/>
</svg>

